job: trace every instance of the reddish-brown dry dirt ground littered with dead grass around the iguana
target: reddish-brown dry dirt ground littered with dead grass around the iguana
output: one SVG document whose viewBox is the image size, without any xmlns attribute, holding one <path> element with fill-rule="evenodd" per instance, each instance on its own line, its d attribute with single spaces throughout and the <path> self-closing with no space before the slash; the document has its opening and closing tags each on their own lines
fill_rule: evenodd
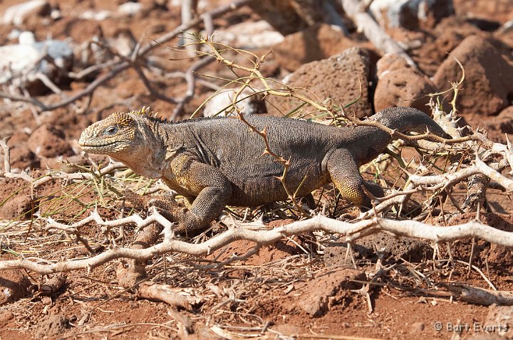
<svg viewBox="0 0 513 340">
<path fill-rule="evenodd" d="M 17 2 L 0 1 L 0 14 Z M 167 5 L 165 1 L 141 1 L 144 11 L 132 17 L 111 16 L 103 20 L 78 18 L 85 11 L 116 11 L 122 2 L 51 1 L 53 7 L 58 4 L 60 19 L 34 15 L 21 27 L 33 31 L 36 40 L 51 36 L 56 39 L 71 38 L 81 44 L 91 41 L 94 36 L 102 36 L 106 41 L 118 39 L 123 42 L 123 37 L 130 33 L 135 41 L 142 38 L 144 44 L 147 43 L 145 37 L 155 38 L 180 24 L 180 8 L 171 4 L 177 1 L 169 1 Z M 212 9 L 228 1 L 204 2 L 207 9 Z M 487 35 L 513 18 L 513 1 L 460 0 L 455 1 L 455 9 L 457 15 L 445 18 L 443 23 L 445 29 L 454 32 L 445 41 L 437 39 L 441 36 L 442 28 L 436 26 L 415 32 L 390 31 L 397 39 L 416 35 L 423 41 L 410 54 L 428 76 L 435 74 L 445 59 L 445 53 L 452 51 L 467 35 L 467 31 L 479 31 L 488 39 Z M 214 26 L 227 28 L 234 23 L 257 20 L 257 14 L 243 8 L 215 19 Z M 462 31 L 457 31 L 455 27 L 462 27 Z M 9 24 L 0 25 L 2 45 L 16 43 L 14 38 L 8 38 L 13 28 Z M 501 51 L 509 53 L 509 58 L 513 48 L 512 34 L 509 31 L 509 36 L 502 37 L 502 40 L 495 36 L 502 44 Z M 324 43 L 329 41 L 328 38 L 322 37 Z M 350 38 L 368 48 L 371 68 L 375 71 L 378 52 L 360 33 L 351 31 Z M 175 39 L 170 45 L 176 43 Z M 261 48 L 253 52 L 262 55 L 266 51 L 268 49 Z M 328 55 L 332 53 L 326 52 L 326 48 L 323 51 Z M 308 53 L 293 52 L 295 55 Z M 193 63 L 169 48 L 158 48 L 152 54 L 168 75 L 185 72 Z M 292 63 L 297 63 L 299 67 L 305 61 L 328 55 L 321 53 L 284 60 L 283 53 L 280 55 L 277 52 L 269 55 L 263 72 L 265 76 L 281 78 L 290 71 Z M 82 66 L 76 67 L 80 70 Z M 58 102 L 63 96 L 83 90 L 105 72 L 107 70 L 60 85 L 63 95 L 47 92 L 37 98 L 47 104 Z M 229 76 L 229 72 L 217 63 L 204 68 L 202 73 Z M 467 73 L 471 74 L 472 70 L 467 70 Z M 153 76 L 155 78 L 150 80 L 157 90 L 168 97 L 182 97 L 187 90 L 182 77 L 165 77 L 157 73 Z M 513 83 L 513 78 L 509 79 L 509 83 Z M 463 87 L 470 85 L 464 83 Z M 188 117 L 211 93 L 212 90 L 206 85 L 198 85 L 195 96 L 185 104 L 177 118 Z M 486 101 L 487 97 L 476 100 Z M 507 95 L 507 101 L 509 104 L 506 107 L 512 105 L 511 92 Z M 41 169 L 59 169 L 62 166 L 57 161 L 58 156 L 88 166 L 78 149 L 77 140 L 82 130 L 114 110 L 130 110 L 142 105 L 151 105 L 152 110 L 164 117 L 169 117 L 169 112 L 175 109 L 175 104 L 151 95 L 135 70 L 130 68 L 98 87 L 90 98 L 43 112 L 37 117 L 30 105 L 5 101 L 0 105 L 0 137 L 11 137 L 11 167 L 28 168 L 28 174 L 37 178 L 43 174 Z M 372 103 L 369 110 L 373 105 L 377 106 Z M 462 110 L 462 117 L 472 127 L 484 126 L 489 129 L 491 139 L 504 142 L 504 133 L 513 132 L 513 115 L 494 117 L 498 113 L 476 113 L 467 107 Z M 147 183 L 138 177 L 126 181 L 130 182 L 130 186 L 138 187 Z M 118 181 L 116 185 L 123 183 Z M 0 260 L 13 260 L 21 256 L 29 260 L 36 257 L 46 260 L 90 257 L 90 252 L 83 243 L 76 242 L 74 235 L 43 230 L 42 219 L 33 220 L 31 211 L 37 206 L 41 216 L 63 223 L 73 223 L 88 216 L 95 204 L 104 219 L 118 218 L 130 212 L 133 208 L 130 203 L 123 201 L 105 185 L 103 182 L 71 183 L 61 179 L 33 188 L 23 179 L 0 179 L 0 217 L 3 221 L 0 228 Z M 455 196 L 461 198 L 464 195 L 465 186 L 457 186 Z M 513 206 L 509 196 L 502 195 L 500 191 L 490 191 L 488 201 L 489 210 L 482 213 L 482 220 L 494 228 L 513 231 Z M 339 204 L 336 217 L 349 219 L 355 216 L 356 211 L 343 211 L 342 206 Z M 452 208 L 452 211 L 455 209 Z M 244 215 L 244 211 L 236 213 L 240 214 L 239 217 Z M 258 211 L 253 211 L 249 217 L 258 214 Z M 266 216 L 266 223 L 270 222 L 269 227 L 272 227 L 290 223 L 291 220 L 286 218 L 294 218 L 295 215 L 287 211 L 282 216 L 269 213 Z M 472 218 L 475 218 L 475 213 L 460 214 L 453 217 L 450 223 L 462 223 Z M 105 236 L 100 233 L 98 225 L 90 223 L 81 228 L 81 233 L 90 240 L 95 252 L 105 250 Z M 120 245 L 129 246 L 134 234 L 135 228 L 129 225 L 116 230 L 109 238 L 116 238 Z M 212 234 L 202 237 L 210 236 Z M 28 286 L 37 289 L 37 285 L 46 282 L 46 277 L 23 270 L 2 272 L 2 287 L 10 287 L 12 292 L 23 297 L 4 296 L 0 307 L 0 339 L 175 339 L 185 337 L 187 332 L 194 339 L 458 339 L 460 336 L 466 338 L 482 334 L 480 327 L 485 324 L 495 327 L 489 329 L 488 334 L 491 335 L 513 326 L 511 321 L 494 319 L 494 314 L 502 313 L 501 307 L 470 304 L 452 299 L 450 294 L 442 294 L 446 292 L 442 284 L 447 282 L 489 288 L 484 277 L 499 290 L 513 290 L 512 253 L 503 247 L 476 240 L 472 260 L 478 270 L 469 271 L 465 262 L 470 257 L 472 240 L 452 244 L 452 264 L 450 260 L 440 260 L 448 258 L 445 244 L 437 248 L 419 240 L 398 240 L 389 235 L 377 235 L 361 241 L 367 249 L 373 250 L 371 253 L 357 250 L 354 264 L 346 262 L 343 267 L 332 267 L 333 264 L 344 264 L 341 258 L 342 253 L 345 255 L 345 248 L 328 249 L 333 241 L 336 241 L 335 235 L 301 235 L 262 247 L 256 255 L 246 260 L 222 266 L 214 264 L 234 254 L 244 255 L 254 245 L 237 241 L 207 257 L 170 254 L 152 260 L 147 269 L 152 282 L 166 283 L 197 294 L 199 302 L 189 309 L 173 309 L 163 302 L 140 299 L 123 289 L 115 276 L 116 261 L 91 272 L 68 272 L 66 283 L 51 297 L 23 293 Z M 434 249 L 440 252 L 436 256 L 433 255 Z M 365 286 L 368 291 L 362 289 L 362 282 L 371 281 L 366 273 L 378 272 L 378 263 L 387 270 L 381 272 L 382 276 L 373 280 L 371 285 Z M 442 293 L 432 294 L 434 291 Z M 513 315 L 511 311 L 504 313 Z M 513 335 L 511 330 L 508 334 Z"/>
</svg>

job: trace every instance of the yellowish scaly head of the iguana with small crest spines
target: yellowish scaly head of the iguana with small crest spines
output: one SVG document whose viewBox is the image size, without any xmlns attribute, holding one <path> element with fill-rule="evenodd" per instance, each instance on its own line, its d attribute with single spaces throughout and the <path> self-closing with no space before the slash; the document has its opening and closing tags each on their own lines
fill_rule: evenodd
<svg viewBox="0 0 513 340">
<path fill-rule="evenodd" d="M 147 108 L 131 112 L 114 112 L 109 117 L 87 127 L 78 140 L 83 151 L 90 154 L 118 156 L 138 149 L 138 116 L 147 114 Z"/>
</svg>

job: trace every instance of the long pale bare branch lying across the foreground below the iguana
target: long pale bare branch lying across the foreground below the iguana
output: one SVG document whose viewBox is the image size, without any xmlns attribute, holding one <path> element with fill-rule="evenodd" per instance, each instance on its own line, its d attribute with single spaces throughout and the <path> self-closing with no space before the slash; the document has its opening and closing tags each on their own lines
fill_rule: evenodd
<svg viewBox="0 0 513 340">
<path fill-rule="evenodd" d="M 488 242 L 504 245 L 513 248 L 513 233 L 498 230 L 484 225 L 480 221 L 470 221 L 461 225 L 452 225 L 449 227 L 437 227 L 426 223 L 416 221 L 394 221 L 385 218 L 373 218 L 372 220 L 360 221 L 358 223 L 348 223 L 336 221 L 321 215 L 315 216 L 306 221 L 297 221 L 289 225 L 284 225 L 271 230 L 248 230 L 241 225 L 239 228 L 230 228 L 214 238 L 210 238 L 202 243 L 191 244 L 182 240 L 177 240 L 172 232 L 172 223 L 167 221 L 155 209 L 152 214 L 145 219 L 138 215 L 123 218 L 121 223 L 118 221 L 96 221 L 103 226 L 121 225 L 124 223 L 133 223 L 139 228 L 143 228 L 150 223 L 158 222 L 164 226 L 165 238 L 162 243 L 145 249 L 130 249 L 113 247 L 105 253 L 95 255 L 86 260 L 60 260 L 50 265 L 44 265 L 36 261 L 21 259 L 7 260 L 0 262 L 0 270 L 6 269 L 26 269 L 38 272 L 39 274 L 52 274 L 56 272 L 68 272 L 71 270 L 88 269 L 92 270 L 99 265 L 103 265 L 110 260 L 118 258 L 130 258 L 138 261 L 146 261 L 165 253 L 180 252 L 189 255 L 202 256 L 212 253 L 214 250 L 224 247 L 235 240 L 250 240 L 257 245 L 267 245 L 275 243 L 282 238 L 292 235 L 309 233 L 315 230 L 323 230 L 328 233 L 338 233 L 346 241 L 356 240 L 366 235 L 388 231 L 395 235 L 407 236 L 410 238 L 422 238 L 431 240 L 435 243 L 460 240 L 463 238 L 481 238 Z M 72 228 L 69 226 L 69 228 Z M 41 262 L 48 262 L 42 260 Z"/>
</svg>

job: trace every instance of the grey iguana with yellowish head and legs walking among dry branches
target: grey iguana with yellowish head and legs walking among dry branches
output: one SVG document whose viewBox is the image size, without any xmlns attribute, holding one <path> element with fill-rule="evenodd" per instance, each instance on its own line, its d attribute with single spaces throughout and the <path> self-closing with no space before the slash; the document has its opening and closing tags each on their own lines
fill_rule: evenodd
<svg viewBox="0 0 513 340">
<path fill-rule="evenodd" d="M 383 196 L 383 189 L 364 181 L 358 168 L 385 151 L 391 141 L 387 132 L 281 117 L 245 119 L 259 130 L 266 128 L 271 151 L 290 159 L 285 182 L 298 196 L 331 181 L 343 198 L 359 206 L 370 204 L 363 186 Z M 430 117 L 410 107 L 389 108 L 369 119 L 399 132 L 428 129 L 446 136 Z M 240 119 L 167 122 L 144 108 L 114 112 L 84 130 L 79 143 L 84 151 L 107 154 L 185 196 L 190 210 L 175 214 L 182 230 L 206 227 L 224 206 L 259 206 L 287 198 L 277 179 L 284 167 L 271 155 L 262 155 L 264 139 Z"/>
</svg>

